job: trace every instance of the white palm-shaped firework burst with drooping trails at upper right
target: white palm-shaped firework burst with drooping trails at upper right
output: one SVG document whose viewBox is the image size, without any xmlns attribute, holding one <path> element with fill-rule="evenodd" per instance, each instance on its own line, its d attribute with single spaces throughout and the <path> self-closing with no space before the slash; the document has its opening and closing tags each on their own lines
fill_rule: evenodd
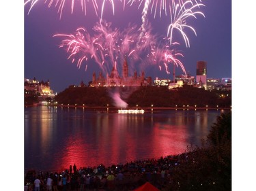
<svg viewBox="0 0 256 191">
<path fill-rule="evenodd" d="M 196 17 L 197 14 L 205 17 L 203 12 L 195 11 L 195 8 L 198 8 L 201 6 L 205 6 L 205 5 L 203 5 L 202 3 L 196 3 L 194 5 L 192 1 L 186 1 L 182 6 L 177 4 L 175 6 L 175 9 L 173 11 L 170 11 L 171 24 L 169 24 L 168 32 L 167 32 L 167 35 L 169 36 L 169 39 L 170 39 L 170 44 L 173 43 L 173 29 L 177 29 L 177 31 L 179 31 L 182 34 L 186 47 L 190 47 L 189 39 L 186 33 L 184 32 L 184 29 L 185 28 L 191 29 L 195 33 L 195 35 L 197 35 L 197 33 L 193 27 L 186 24 L 186 18 L 189 18 L 189 17 L 197 18 Z"/>
</svg>

